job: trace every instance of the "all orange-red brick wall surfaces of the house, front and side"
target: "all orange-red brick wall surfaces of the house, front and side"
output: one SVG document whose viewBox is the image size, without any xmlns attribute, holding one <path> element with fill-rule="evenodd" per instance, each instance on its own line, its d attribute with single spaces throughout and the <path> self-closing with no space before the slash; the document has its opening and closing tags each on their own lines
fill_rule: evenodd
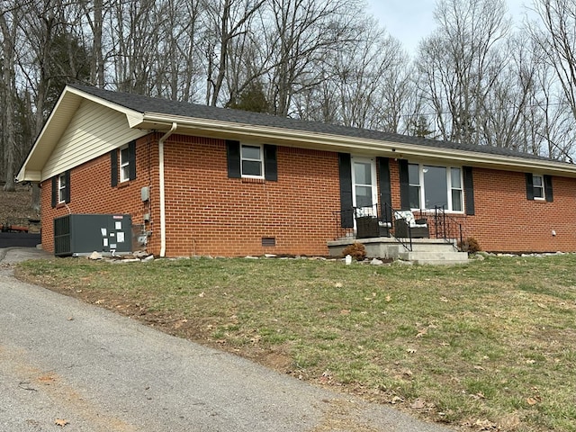
<svg viewBox="0 0 576 432">
<path fill-rule="evenodd" d="M 71 202 L 50 206 L 51 182 L 41 189 L 42 246 L 53 251 L 52 220 L 68 213 L 130 213 L 160 252 L 158 135 L 137 141 L 137 178 L 112 187 L 110 155 L 74 168 Z M 277 148 L 278 181 L 229 178 L 223 140 L 173 135 L 165 143 L 166 256 L 326 255 L 338 235 L 338 155 Z M 398 163 L 391 159 L 392 206 L 400 208 Z M 524 173 L 473 168 L 474 216 L 464 235 L 484 250 L 576 251 L 576 179 L 553 177 L 554 202 L 528 201 Z M 140 200 L 149 185 L 150 201 Z M 556 236 L 552 235 L 555 230 Z M 275 238 L 263 247 L 262 238 Z"/>
</svg>

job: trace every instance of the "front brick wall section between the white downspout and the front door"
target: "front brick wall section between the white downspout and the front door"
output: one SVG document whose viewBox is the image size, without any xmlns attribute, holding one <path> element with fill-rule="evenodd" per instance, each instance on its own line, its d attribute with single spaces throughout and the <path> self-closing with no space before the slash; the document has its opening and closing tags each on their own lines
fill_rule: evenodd
<svg viewBox="0 0 576 432">
<path fill-rule="evenodd" d="M 220 139 L 175 135 L 165 158 L 167 256 L 328 254 L 339 210 L 336 153 L 278 147 L 277 182 L 229 178 Z"/>
</svg>

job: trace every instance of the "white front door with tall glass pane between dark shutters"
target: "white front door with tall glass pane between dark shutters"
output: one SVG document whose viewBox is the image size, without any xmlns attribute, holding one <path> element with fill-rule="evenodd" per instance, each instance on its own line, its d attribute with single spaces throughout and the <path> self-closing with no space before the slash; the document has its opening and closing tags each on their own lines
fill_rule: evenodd
<svg viewBox="0 0 576 432">
<path fill-rule="evenodd" d="M 377 216 L 378 187 L 374 158 L 352 157 L 352 203 L 359 215 Z"/>
</svg>

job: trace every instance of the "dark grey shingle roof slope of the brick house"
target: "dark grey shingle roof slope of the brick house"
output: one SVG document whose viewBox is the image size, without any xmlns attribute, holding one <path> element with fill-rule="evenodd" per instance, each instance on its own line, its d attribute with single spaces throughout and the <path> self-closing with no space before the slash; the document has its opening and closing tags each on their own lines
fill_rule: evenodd
<svg viewBox="0 0 576 432">
<path fill-rule="evenodd" d="M 85 85 L 70 85 L 87 94 L 92 94 L 106 101 L 116 103 L 136 112 L 157 112 L 168 115 L 178 115 L 197 119 L 229 121 L 242 124 L 253 124 L 258 126 L 269 126 L 286 130 L 302 130 L 308 132 L 326 133 L 359 139 L 376 139 L 387 142 L 397 142 L 411 144 L 429 148 L 446 148 L 454 150 L 472 151 L 497 156 L 524 157 L 539 160 L 554 160 L 549 157 L 536 156 L 530 153 L 522 153 L 509 148 L 477 146 L 452 141 L 437 139 L 425 139 L 411 137 L 397 133 L 383 132 L 379 130 L 367 130 L 351 128 L 335 124 L 323 123 L 320 121 L 302 121 L 260 112 L 247 112 L 232 110 L 229 108 L 218 108 L 214 106 L 201 105 L 196 103 L 184 103 L 170 101 L 166 99 L 153 98 L 140 94 L 128 94 L 112 92 L 100 88 Z"/>
</svg>

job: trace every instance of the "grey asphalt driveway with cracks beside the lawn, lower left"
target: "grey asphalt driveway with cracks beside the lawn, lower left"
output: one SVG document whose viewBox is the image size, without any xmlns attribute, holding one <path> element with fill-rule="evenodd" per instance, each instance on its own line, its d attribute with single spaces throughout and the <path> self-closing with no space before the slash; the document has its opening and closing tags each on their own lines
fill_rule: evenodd
<svg viewBox="0 0 576 432">
<path fill-rule="evenodd" d="M 2 431 L 447 430 L 15 280 L 38 256 L 0 250 Z"/>
</svg>

